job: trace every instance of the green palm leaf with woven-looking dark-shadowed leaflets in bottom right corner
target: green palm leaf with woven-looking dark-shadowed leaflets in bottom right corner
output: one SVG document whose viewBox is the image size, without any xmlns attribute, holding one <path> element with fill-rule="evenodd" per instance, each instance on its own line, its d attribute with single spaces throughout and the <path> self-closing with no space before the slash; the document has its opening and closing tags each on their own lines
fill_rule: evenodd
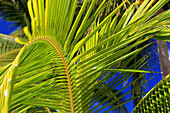
<svg viewBox="0 0 170 113">
<path fill-rule="evenodd" d="M 132 113 L 139 112 L 163 112 L 170 110 L 170 76 L 167 75 L 155 87 L 153 87 L 145 97 L 138 103 Z"/>
</svg>

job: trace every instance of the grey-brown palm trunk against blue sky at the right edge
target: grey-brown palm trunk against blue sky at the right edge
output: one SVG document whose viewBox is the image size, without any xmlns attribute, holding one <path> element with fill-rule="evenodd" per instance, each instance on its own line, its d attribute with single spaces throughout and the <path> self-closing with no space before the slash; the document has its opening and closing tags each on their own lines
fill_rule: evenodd
<svg viewBox="0 0 170 113">
<path fill-rule="evenodd" d="M 158 54 L 162 77 L 165 77 L 166 75 L 170 74 L 168 48 L 165 41 L 158 40 Z"/>
</svg>

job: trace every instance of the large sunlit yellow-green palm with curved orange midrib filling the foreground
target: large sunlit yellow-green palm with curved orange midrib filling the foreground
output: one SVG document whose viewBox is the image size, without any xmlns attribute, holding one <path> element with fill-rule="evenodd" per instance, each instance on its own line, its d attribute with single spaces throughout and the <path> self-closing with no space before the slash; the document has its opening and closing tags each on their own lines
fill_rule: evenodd
<svg viewBox="0 0 170 113">
<path fill-rule="evenodd" d="M 88 0 L 83 2 L 75 19 L 77 0 L 28 1 L 31 26 L 23 29 L 27 38 L 15 38 L 17 43 L 23 45 L 9 42 L 11 36 L 1 36 L 1 51 L 7 49 L 14 53 L 22 47 L 13 62 L 6 62 L 0 68 L 2 113 L 45 110 L 99 112 L 109 105 L 112 107 L 106 112 L 119 107 L 126 111 L 124 103 L 136 97 L 124 102 L 123 97 L 144 83 L 125 94 L 121 92 L 144 73 L 150 72 L 138 70 L 140 65 L 144 65 L 142 61 L 145 57 L 126 69 L 130 61 L 149 44 L 138 49 L 133 48 L 155 36 L 162 38 L 160 35 L 164 34 L 164 30 L 157 28 L 169 24 L 170 16 L 167 14 L 170 11 L 150 18 L 168 0 L 160 0 L 147 13 L 145 11 L 149 7 L 145 7 L 144 2 L 130 22 L 138 3 L 132 4 L 118 20 L 118 11 L 126 1 L 103 19 L 99 12 L 102 7 L 106 7 L 106 0 L 93 11 L 96 1 L 90 1 L 83 20 L 81 16 L 89 4 Z M 17 47 L 9 49 L 11 47 L 4 46 L 6 41 L 7 44 L 12 43 L 11 47 L 14 44 Z M 1 56 L 10 54 L 9 51 L 1 53 Z M 121 74 L 113 77 L 117 72 Z M 143 74 L 116 90 L 134 72 Z M 108 80 L 110 82 L 105 84 Z M 91 108 L 98 101 L 100 104 Z M 108 104 L 97 109 L 106 102 Z"/>
</svg>

